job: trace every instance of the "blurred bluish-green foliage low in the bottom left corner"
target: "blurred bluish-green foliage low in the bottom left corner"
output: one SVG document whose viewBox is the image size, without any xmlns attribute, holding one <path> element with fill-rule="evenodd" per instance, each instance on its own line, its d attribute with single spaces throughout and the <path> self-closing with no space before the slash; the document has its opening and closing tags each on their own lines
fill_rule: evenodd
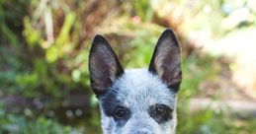
<svg viewBox="0 0 256 134">
<path fill-rule="evenodd" d="M 81 134 L 70 126 L 60 125 L 52 119 L 39 117 L 29 119 L 23 115 L 8 114 L 0 108 L 0 133 L 12 134 Z"/>
</svg>

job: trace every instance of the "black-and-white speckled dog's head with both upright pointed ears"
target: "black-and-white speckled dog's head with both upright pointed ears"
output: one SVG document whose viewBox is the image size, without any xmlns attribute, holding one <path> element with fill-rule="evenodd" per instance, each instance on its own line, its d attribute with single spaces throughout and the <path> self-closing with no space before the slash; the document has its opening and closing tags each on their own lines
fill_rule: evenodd
<svg viewBox="0 0 256 134">
<path fill-rule="evenodd" d="M 89 55 L 91 87 L 105 134 L 174 134 L 182 80 L 175 34 L 159 37 L 148 69 L 124 71 L 107 39 L 96 35 Z"/>
</svg>

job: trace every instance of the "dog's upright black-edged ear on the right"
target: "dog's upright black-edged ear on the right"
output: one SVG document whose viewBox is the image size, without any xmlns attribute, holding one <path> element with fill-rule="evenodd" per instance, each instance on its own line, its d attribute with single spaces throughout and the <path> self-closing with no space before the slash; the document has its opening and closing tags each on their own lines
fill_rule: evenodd
<svg viewBox="0 0 256 134">
<path fill-rule="evenodd" d="M 171 90 L 178 92 L 182 81 L 181 50 L 172 30 L 168 29 L 161 34 L 148 70 L 158 75 Z"/>
</svg>

